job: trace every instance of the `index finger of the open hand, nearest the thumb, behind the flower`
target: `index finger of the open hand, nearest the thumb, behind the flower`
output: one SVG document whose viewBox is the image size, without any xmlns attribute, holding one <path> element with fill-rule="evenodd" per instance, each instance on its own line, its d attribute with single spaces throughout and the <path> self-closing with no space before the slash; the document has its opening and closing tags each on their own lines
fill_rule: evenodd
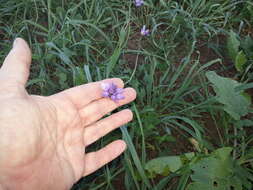
<svg viewBox="0 0 253 190">
<path fill-rule="evenodd" d="M 112 78 L 73 87 L 53 96 L 65 97 L 70 100 L 77 107 L 77 109 L 81 109 L 88 103 L 102 98 L 102 83 L 114 83 L 119 88 L 123 88 L 124 86 L 124 83 L 121 79 Z"/>
</svg>

